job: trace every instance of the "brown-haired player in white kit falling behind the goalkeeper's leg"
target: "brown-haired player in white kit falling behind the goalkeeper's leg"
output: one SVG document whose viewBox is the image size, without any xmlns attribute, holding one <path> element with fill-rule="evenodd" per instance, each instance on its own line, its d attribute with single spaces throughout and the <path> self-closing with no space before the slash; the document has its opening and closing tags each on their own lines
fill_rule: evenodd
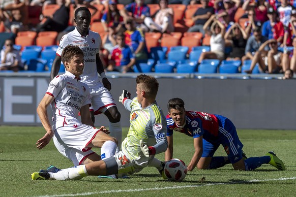
<svg viewBox="0 0 296 197">
<path fill-rule="evenodd" d="M 90 117 L 90 92 L 87 84 L 80 81 L 83 72 L 83 52 L 77 46 L 67 46 L 62 53 L 66 73 L 56 76 L 49 84 L 37 113 L 46 130 L 37 141 L 37 148 L 44 148 L 53 137 L 60 153 L 69 158 L 75 166 L 101 160 L 92 147 L 102 147 L 101 153 L 110 157 L 116 150 L 116 139 L 108 136 L 103 126 L 98 129 Z M 53 125 L 49 123 L 47 107 L 53 110 Z M 81 121 L 78 120 L 80 112 Z M 106 133 L 104 133 L 106 132 Z"/>
</svg>

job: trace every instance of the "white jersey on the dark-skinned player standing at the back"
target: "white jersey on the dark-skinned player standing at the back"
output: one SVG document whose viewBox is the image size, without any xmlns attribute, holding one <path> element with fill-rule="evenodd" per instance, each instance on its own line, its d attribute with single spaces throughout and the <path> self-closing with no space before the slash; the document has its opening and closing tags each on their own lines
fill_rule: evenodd
<svg viewBox="0 0 296 197">
<path fill-rule="evenodd" d="M 97 32 L 88 30 L 88 35 L 84 37 L 75 27 L 73 31 L 62 37 L 56 50 L 58 56 L 62 55 L 64 48 L 68 45 L 78 46 L 83 51 L 85 65 L 83 74 L 80 77 L 81 81 L 90 88 L 103 86 L 99 79 L 96 63 L 96 54 L 99 53 L 101 42 L 101 37 Z"/>
</svg>

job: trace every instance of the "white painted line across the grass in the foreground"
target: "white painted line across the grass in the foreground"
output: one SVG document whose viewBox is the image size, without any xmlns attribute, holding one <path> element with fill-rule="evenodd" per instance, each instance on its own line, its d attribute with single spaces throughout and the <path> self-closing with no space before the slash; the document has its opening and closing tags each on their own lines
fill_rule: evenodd
<svg viewBox="0 0 296 197">
<path fill-rule="evenodd" d="M 103 193 L 120 193 L 120 192 L 134 192 L 134 191 L 151 191 L 151 190 L 163 190 L 163 189 L 183 189 L 188 187 L 201 187 L 201 186 L 212 186 L 212 185 L 230 185 L 230 184 L 241 184 L 241 183 L 249 183 L 249 182 L 260 182 L 260 181 L 285 181 L 285 180 L 293 180 L 296 177 L 289 178 L 278 178 L 278 179 L 254 179 L 247 181 L 233 181 L 233 182 L 221 182 L 221 183 L 208 183 L 208 184 L 200 184 L 200 185 L 183 185 L 183 186 L 171 186 L 171 187 L 153 187 L 153 188 L 145 188 L 145 189 L 128 189 L 128 190 L 106 190 L 106 191 L 98 191 L 98 192 L 85 192 L 85 193 L 68 193 L 68 194 L 59 194 L 59 195 L 41 195 L 38 197 L 60 197 L 60 196 L 79 196 L 79 195 L 93 195 L 93 194 L 103 194 Z"/>
</svg>

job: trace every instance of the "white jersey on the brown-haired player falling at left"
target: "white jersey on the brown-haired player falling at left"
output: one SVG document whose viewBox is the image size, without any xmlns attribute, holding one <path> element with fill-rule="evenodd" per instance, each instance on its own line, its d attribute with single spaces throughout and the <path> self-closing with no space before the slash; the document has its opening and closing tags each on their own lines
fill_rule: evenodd
<svg viewBox="0 0 296 197">
<path fill-rule="evenodd" d="M 73 122 L 81 123 L 78 112 L 82 106 L 91 105 L 88 86 L 68 71 L 53 78 L 46 93 L 54 97 L 53 130 Z"/>
</svg>

